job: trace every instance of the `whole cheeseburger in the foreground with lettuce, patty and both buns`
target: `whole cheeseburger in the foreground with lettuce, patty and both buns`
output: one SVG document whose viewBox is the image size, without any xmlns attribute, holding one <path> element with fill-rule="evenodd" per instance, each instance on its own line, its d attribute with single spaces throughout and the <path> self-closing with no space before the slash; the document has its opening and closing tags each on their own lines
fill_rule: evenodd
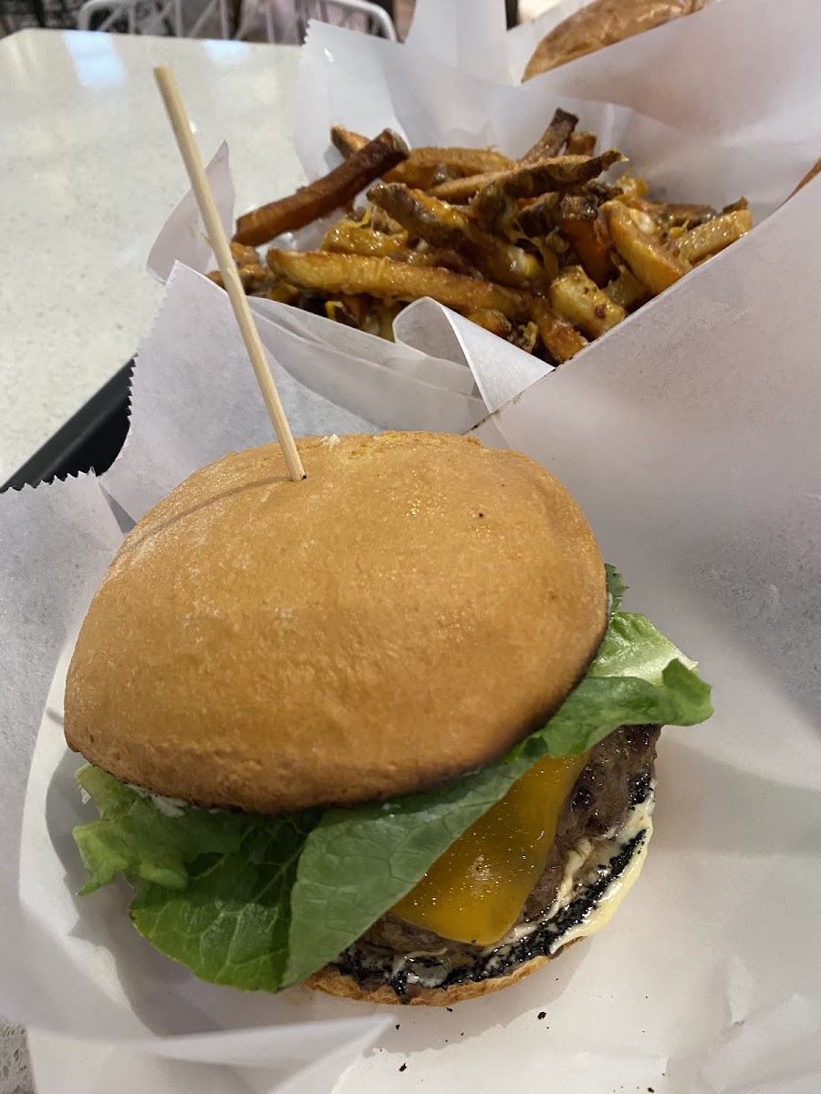
<svg viewBox="0 0 821 1094">
<path fill-rule="evenodd" d="M 204 980 L 379 1003 L 513 984 L 593 933 L 709 688 L 516 452 L 433 433 L 232 453 L 123 543 L 71 661 L 81 892 Z"/>
</svg>

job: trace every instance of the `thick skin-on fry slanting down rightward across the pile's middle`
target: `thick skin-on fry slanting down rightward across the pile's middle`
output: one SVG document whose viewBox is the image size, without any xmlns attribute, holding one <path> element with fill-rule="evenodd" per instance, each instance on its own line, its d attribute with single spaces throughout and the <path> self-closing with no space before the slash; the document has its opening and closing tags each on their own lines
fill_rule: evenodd
<svg viewBox="0 0 821 1094">
<path fill-rule="evenodd" d="M 517 287 L 541 274 L 533 255 L 484 232 L 461 209 L 421 190 L 408 189 L 401 183 L 374 183 L 368 200 L 384 209 L 409 235 L 436 247 L 453 248 L 501 284 Z"/>
</svg>

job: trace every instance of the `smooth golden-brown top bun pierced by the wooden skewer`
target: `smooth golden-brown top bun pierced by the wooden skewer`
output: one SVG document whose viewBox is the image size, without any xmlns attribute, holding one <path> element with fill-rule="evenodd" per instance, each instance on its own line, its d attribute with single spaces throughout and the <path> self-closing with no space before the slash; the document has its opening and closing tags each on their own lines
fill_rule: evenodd
<svg viewBox="0 0 821 1094">
<path fill-rule="evenodd" d="M 567 490 L 441 433 L 277 445 L 196 472 L 89 608 L 66 740 L 124 782 L 280 813 L 454 780 L 541 724 L 606 625 Z"/>
</svg>

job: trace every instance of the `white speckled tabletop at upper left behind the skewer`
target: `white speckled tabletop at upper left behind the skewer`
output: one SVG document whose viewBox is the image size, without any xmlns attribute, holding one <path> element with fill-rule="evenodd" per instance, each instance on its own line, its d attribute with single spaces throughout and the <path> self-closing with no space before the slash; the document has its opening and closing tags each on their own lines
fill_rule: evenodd
<svg viewBox="0 0 821 1094">
<path fill-rule="evenodd" d="M 300 181 L 298 60 L 77 31 L 0 40 L 0 482 L 128 361 L 159 299 L 146 257 L 187 179 L 151 67 L 174 67 L 205 159 L 229 140 L 246 208 Z"/>
</svg>

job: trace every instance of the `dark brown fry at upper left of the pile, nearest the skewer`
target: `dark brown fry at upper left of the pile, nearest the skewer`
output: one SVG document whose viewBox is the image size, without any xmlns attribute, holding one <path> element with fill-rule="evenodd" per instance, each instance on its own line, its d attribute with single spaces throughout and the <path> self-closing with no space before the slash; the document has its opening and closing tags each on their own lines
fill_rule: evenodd
<svg viewBox="0 0 821 1094">
<path fill-rule="evenodd" d="M 406 159 L 408 149 L 402 138 L 384 129 L 329 174 L 300 187 L 290 197 L 271 201 L 240 217 L 234 242 L 259 246 L 282 232 L 296 231 L 326 217 L 334 209 L 352 201 L 361 189 Z"/>
</svg>

